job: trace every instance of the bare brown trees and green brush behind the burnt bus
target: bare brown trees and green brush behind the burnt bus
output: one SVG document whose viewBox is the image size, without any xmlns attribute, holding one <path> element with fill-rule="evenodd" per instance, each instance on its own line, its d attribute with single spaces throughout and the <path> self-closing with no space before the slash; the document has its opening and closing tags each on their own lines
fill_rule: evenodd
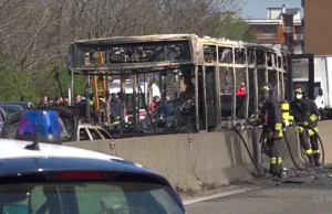
<svg viewBox="0 0 332 214">
<path fill-rule="evenodd" d="M 241 1 L 0 0 L 0 100 L 59 95 L 54 67 L 61 67 L 66 90 L 68 49 L 74 40 L 157 33 L 221 36 L 221 22 L 207 19 L 238 12 Z M 74 93 L 82 93 L 84 84 L 84 77 L 76 77 Z"/>
</svg>

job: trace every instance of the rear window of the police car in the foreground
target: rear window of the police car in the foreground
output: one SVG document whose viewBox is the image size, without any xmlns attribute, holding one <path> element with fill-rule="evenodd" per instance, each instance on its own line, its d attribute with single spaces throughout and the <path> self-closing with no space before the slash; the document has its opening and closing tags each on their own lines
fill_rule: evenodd
<svg viewBox="0 0 332 214">
<path fill-rule="evenodd" d="M 10 214 L 184 214 L 167 188 L 149 183 L 6 184 L 0 203 Z"/>
</svg>

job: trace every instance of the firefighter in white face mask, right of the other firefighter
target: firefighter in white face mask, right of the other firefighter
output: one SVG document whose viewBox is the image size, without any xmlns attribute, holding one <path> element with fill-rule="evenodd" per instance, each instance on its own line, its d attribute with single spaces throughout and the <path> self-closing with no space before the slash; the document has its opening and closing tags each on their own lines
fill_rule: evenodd
<svg viewBox="0 0 332 214">
<path fill-rule="evenodd" d="M 295 100 L 290 105 L 290 119 L 297 124 L 302 124 L 298 126 L 301 146 L 305 150 L 310 165 L 320 167 L 320 151 L 317 137 L 318 107 L 313 100 L 307 97 L 305 88 L 302 85 L 294 86 L 294 96 Z M 310 138 L 311 147 L 308 137 Z"/>
</svg>

